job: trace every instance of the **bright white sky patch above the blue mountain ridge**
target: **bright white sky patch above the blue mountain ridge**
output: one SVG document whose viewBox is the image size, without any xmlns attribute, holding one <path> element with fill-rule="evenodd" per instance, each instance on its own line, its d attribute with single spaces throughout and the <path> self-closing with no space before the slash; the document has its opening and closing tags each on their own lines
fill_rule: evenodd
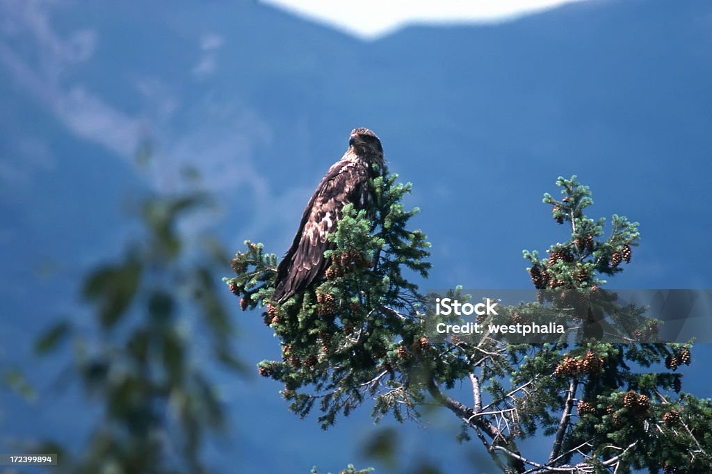
<svg viewBox="0 0 712 474">
<path fill-rule="evenodd" d="M 498 21 L 582 0 L 262 1 L 323 21 L 363 38 L 374 38 L 405 23 Z"/>
</svg>

